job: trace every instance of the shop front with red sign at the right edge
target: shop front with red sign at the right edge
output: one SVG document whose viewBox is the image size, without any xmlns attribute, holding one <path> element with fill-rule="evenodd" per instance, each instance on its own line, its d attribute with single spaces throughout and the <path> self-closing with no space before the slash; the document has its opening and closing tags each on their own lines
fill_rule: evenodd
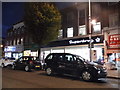
<svg viewBox="0 0 120 90">
<path fill-rule="evenodd" d="M 120 34 L 112 34 L 108 36 L 107 56 L 108 62 L 115 62 L 120 67 Z"/>
</svg>

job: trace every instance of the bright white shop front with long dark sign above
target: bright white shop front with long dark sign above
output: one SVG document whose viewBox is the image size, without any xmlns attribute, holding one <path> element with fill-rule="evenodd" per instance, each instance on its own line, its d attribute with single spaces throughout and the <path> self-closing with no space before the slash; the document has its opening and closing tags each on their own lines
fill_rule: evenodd
<svg viewBox="0 0 120 90">
<path fill-rule="evenodd" d="M 83 58 L 90 60 L 89 42 L 89 37 L 54 41 L 49 43 L 47 46 L 41 48 L 40 56 L 41 59 L 44 60 L 49 53 L 71 53 L 80 55 Z M 92 60 L 103 60 L 103 36 L 93 36 L 92 43 Z"/>
</svg>

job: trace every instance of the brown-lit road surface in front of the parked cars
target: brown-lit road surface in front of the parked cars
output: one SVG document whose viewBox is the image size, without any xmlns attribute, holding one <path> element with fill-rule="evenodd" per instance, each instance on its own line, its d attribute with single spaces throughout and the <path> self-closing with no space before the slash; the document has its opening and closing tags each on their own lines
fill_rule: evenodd
<svg viewBox="0 0 120 90">
<path fill-rule="evenodd" d="M 45 71 L 2 69 L 2 88 L 118 88 L 118 79 L 85 82 L 70 76 L 47 76 Z"/>
</svg>

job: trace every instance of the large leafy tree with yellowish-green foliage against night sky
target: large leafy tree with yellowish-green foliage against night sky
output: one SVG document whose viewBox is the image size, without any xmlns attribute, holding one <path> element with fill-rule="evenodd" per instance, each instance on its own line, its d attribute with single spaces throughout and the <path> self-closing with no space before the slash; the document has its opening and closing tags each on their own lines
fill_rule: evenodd
<svg viewBox="0 0 120 90">
<path fill-rule="evenodd" d="M 25 4 L 24 22 L 33 41 L 41 46 L 57 38 L 61 15 L 52 3 L 28 2 Z"/>
</svg>

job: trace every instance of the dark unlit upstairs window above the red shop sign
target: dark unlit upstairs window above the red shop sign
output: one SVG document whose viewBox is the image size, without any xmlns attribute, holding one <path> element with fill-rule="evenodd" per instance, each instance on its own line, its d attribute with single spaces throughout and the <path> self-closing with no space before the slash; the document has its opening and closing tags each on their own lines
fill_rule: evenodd
<svg viewBox="0 0 120 90">
<path fill-rule="evenodd" d="M 119 15 L 118 13 L 114 13 L 109 15 L 109 27 L 118 26 L 119 23 Z"/>
</svg>

